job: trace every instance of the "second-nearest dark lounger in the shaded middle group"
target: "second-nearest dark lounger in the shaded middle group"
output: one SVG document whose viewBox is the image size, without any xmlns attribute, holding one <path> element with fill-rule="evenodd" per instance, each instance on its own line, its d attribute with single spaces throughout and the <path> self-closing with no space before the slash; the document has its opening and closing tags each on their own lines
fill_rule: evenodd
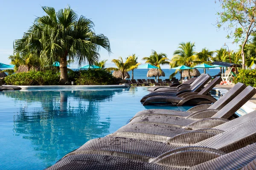
<svg viewBox="0 0 256 170">
<path fill-rule="evenodd" d="M 191 86 L 191 88 L 183 87 L 179 89 L 166 89 L 166 90 L 157 90 L 153 91 L 145 96 L 140 100 L 140 102 L 145 102 L 146 99 L 150 97 L 156 97 L 156 96 L 173 96 L 173 97 L 182 97 L 185 94 L 189 94 L 189 92 L 199 92 L 202 88 L 204 88 L 204 85 L 207 84 L 207 82 L 211 79 L 211 77 L 207 76 L 201 79 L 198 83 Z M 212 82 L 212 84 L 215 82 Z M 211 84 L 211 85 L 212 85 Z M 208 86 L 209 88 L 210 86 Z M 211 89 L 210 89 L 211 90 Z"/>
</svg>

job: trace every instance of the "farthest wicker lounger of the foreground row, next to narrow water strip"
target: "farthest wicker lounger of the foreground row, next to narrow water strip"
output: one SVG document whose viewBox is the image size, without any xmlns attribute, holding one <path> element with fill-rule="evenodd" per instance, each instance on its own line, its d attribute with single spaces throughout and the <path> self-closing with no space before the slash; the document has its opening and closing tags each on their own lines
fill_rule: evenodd
<svg viewBox="0 0 256 170">
<path fill-rule="evenodd" d="M 198 111 L 204 111 L 204 110 L 220 110 L 223 108 L 228 102 L 230 102 L 234 97 L 236 97 L 238 94 L 241 93 L 246 88 L 246 85 L 243 83 L 238 82 L 236 85 L 234 85 L 233 88 L 231 88 L 226 94 L 224 94 L 220 99 L 218 99 L 213 104 L 204 104 L 204 105 L 197 105 L 193 108 L 190 108 L 187 111 L 176 111 L 176 110 L 169 110 L 169 109 L 148 109 L 139 111 L 135 114 L 135 116 L 132 118 L 136 118 L 138 116 L 143 115 L 177 115 L 177 116 L 189 116 L 192 113 L 198 112 Z M 131 119 L 131 120 L 132 120 Z"/>
</svg>

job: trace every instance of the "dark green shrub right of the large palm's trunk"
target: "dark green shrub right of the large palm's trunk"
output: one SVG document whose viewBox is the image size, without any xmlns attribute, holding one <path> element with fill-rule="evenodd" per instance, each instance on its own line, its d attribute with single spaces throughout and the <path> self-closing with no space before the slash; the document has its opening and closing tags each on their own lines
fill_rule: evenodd
<svg viewBox="0 0 256 170">
<path fill-rule="evenodd" d="M 78 75 L 77 75 L 78 74 Z M 73 73 L 76 85 L 114 85 L 116 84 L 112 74 L 101 69 L 88 69 Z M 70 79 L 72 77 L 70 76 Z"/>
</svg>

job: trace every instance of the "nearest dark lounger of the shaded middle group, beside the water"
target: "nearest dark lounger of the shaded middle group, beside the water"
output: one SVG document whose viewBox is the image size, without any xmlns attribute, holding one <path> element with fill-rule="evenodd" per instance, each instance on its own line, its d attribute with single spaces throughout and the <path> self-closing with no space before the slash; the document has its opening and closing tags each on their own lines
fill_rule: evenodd
<svg viewBox="0 0 256 170">
<path fill-rule="evenodd" d="M 182 93 L 178 96 L 171 96 L 166 94 L 156 94 L 155 96 L 148 97 L 143 102 L 143 105 L 201 105 L 201 104 L 210 104 L 216 102 L 216 99 L 211 95 L 207 95 L 212 88 L 215 87 L 219 82 L 221 82 L 220 77 L 216 77 L 212 82 L 210 82 L 207 87 L 201 90 L 199 93 Z M 203 84 L 198 85 L 198 87 Z M 199 89 L 199 88 L 198 88 Z M 200 88 L 201 89 L 201 88 Z"/>
</svg>

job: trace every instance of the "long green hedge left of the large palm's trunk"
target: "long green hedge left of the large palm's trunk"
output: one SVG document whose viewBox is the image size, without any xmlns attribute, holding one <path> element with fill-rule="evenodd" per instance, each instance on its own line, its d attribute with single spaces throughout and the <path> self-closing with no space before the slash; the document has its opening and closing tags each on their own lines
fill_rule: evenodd
<svg viewBox="0 0 256 170">
<path fill-rule="evenodd" d="M 59 76 L 53 71 L 29 71 L 5 77 L 7 85 L 58 85 Z"/>
</svg>

